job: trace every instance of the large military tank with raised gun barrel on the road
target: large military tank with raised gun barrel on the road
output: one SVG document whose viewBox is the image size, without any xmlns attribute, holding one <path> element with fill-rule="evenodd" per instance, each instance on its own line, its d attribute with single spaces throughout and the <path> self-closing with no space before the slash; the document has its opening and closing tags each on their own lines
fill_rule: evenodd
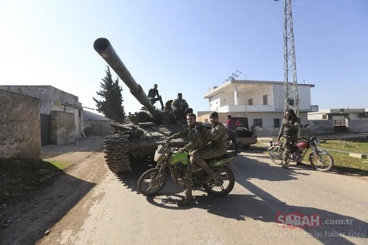
<svg viewBox="0 0 368 245">
<path fill-rule="evenodd" d="M 185 121 L 177 121 L 173 114 L 164 114 L 149 101 L 142 87 L 134 80 L 110 42 L 106 38 L 98 38 L 93 48 L 106 61 L 112 70 L 130 89 L 131 94 L 143 107 L 138 111 L 129 112 L 131 124 L 111 124 L 114 132 L 105 136 L 105 161 L 113 173 L 131 172 L 134 158 L 153 156 L 158 145 L 164 144 L 167 136 L 187 127 Z M 175 98 L 176 95 L 173 95 Z M 165 105 L 171 108 L 171 100 Z M 189 141 L 172 140 L 172 147 L 183 147 Z"/>
</svg>

